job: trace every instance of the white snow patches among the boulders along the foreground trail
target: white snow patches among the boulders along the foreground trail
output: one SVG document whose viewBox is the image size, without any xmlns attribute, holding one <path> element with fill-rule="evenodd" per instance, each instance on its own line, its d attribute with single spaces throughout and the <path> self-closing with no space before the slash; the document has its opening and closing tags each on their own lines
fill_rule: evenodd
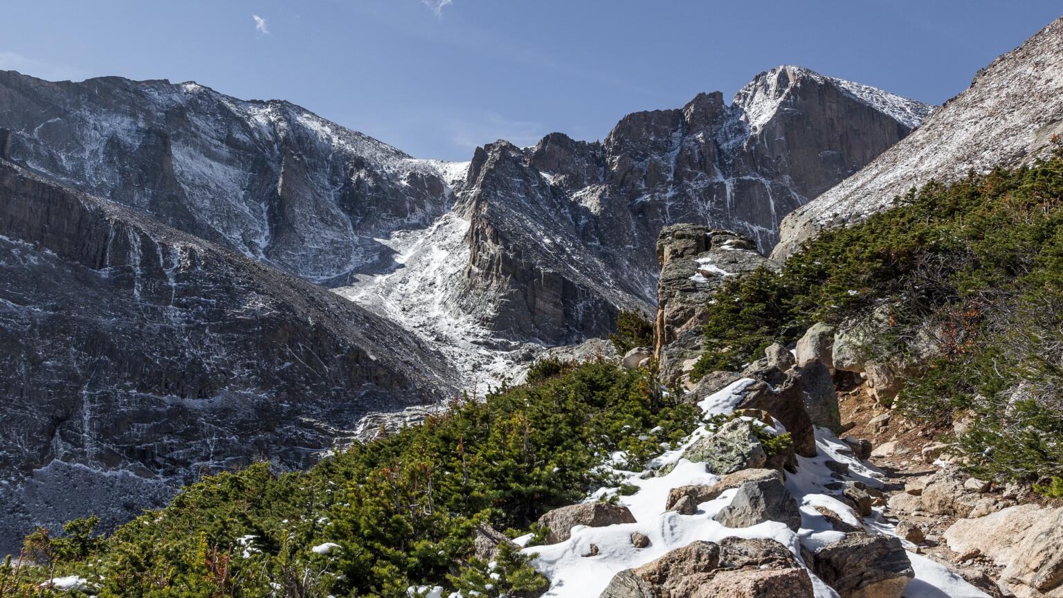
<svg viewBox="0 0 1063 598">
<path fill-rule="evenodd" d="M 752 382 L 748 379 L 739 380 L 702 401 L 699 406 L 707 415 L 730 413 L 741 400 L 742 391 Z M 778 423 L 776 430 L 783 431 Z M 624 483 L 638 487 L 638 492 L 634 494 L 618 497 L 618 502 L 627 506 L 635 516 L 635 524 L 619 524 L 603 528 L 577 526 L 572 530 L 572 537 L 566 542 L 525 548 L 525 553 L 538 554 L 533 565 L 552 582 L 545 596 L 557 598 L 598 596 L 618 572 L 644 565 L 694 541 L 719 542 L 728 536 L 775 539 L 787 546 L 804 563 L 802 547 L 814 551 L 845 535 L 834 531 L 815 506 L 827 508 L 845 522 L 863 526 L 870 533 L 893 534 L 894 526 L 885 519 L 881 509 L 876 509 L 871 516 L 861 518 L 827 488 L 828 484 L 838 482 L 830 476 L 830 469 L 825 465 L 830 460 L 848 466 L 847 480 L 861 481 L 868 486 L 880 486 L 882 474 L 855 458 L 842 441 L 829 430 L 822 428 L 816 429 L 819 455 L 798 456 L 797 472 L 787 476 L 787 489 L 797 500 L 802 515 L 802 525 L 797 532 L 778 521 L 765 521 L 738 529 L 727 528 L 714 521 L 712 516 L 730 503 L 738 492 L 737 488 L 726 491 L 720 497 L 701 503 L 694 515 L 664 511 L 670 489 L 684 485 L 719 482 L 719 477 L 706 472 L 704 464 L 691 463 L 681 458 L 687 447 L 707 434 L 709 431 L 704 425 L 698 427 L 681 447 L 661 454 L 651 463 L 653 468 L 675 464 L 675 468 L 667 476 L 641 479 L 641 474 L 613 469 L 624 479 Z M 622 454 L 614 454 L 611 461 L 620 463 L 622 460 Z M 619 487 L 601 488 L 591 494 L 587 501 L 615 495 L 619 491 Z M 649 538 L 649 546 L 642 549 L 634 547 L 630 541 L 632 532 L 645 534 Z M 598 547 L 597 555 L 584 557 L 591 544 Z M 906 544 L 906 546 L 914 548 L 913 545 Z M 988 598 L 985 593 L 946 567 L 911 551 L 908 555 L 915 571 L 915 579 L 905 591 L 905 598 Z M 838 598 L 838 593 L 811 571 L 809 577 L 812 579 L 817 598 Z"/>
</svg>

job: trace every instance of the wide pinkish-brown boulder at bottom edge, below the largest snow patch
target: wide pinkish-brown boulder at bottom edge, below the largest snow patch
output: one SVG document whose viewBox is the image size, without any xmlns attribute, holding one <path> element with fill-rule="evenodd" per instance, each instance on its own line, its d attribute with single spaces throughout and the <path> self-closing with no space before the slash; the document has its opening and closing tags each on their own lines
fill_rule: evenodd
<svg viewBox="0 0 1063 598">
<path fill-rule="evenodd" d="M 693 542 L 617 574 L 602 598 L 812 598 L 812 583 L 778 542 Z"/>
</svg>

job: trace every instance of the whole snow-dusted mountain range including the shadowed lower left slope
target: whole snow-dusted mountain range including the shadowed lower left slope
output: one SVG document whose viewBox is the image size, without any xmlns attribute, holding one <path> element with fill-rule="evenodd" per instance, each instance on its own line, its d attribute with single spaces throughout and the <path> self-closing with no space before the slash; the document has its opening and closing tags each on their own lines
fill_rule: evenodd
<svg viewBox="0 0 1063 598">
<path fill-rule="evenodd" d="M 446 163 L 288 102 L 0 71 L 0 539 L 512 380 L 653 313 L 663 226 L 766 250 L 928 110 L 779 67 Z"/>
</svg>

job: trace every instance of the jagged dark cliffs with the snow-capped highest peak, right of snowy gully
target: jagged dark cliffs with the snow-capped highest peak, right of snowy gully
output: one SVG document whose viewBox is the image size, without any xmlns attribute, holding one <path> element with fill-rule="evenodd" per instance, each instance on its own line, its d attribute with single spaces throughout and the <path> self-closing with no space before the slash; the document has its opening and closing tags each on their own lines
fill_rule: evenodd
<svg viewBox="0 0 1063 598">
<path fill-rule="evenodd" d="M 653 311 L 672 222 L 736 230 L 766 252 L 782 217 L 904 137 L 929 106 L 798 67 L 731 104 L 624 117 L 603 143 L 554 133 L 477 150 L 456 211 L 470 222 L 460 304 L 497 334 L 597 335 L 618 306 Z"/>
</svg>

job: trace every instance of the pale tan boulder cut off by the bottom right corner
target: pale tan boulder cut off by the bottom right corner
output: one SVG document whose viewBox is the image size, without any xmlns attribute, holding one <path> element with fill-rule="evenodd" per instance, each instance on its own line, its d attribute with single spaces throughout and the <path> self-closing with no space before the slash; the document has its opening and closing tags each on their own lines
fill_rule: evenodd
<svg viewBox="0 0 1063 598">
<path fill-rule="evenodd" d="M 1000 582 L 1017 598 L 1063 597 L 1063 508 L 1026 531 Z"/>
</svg>

